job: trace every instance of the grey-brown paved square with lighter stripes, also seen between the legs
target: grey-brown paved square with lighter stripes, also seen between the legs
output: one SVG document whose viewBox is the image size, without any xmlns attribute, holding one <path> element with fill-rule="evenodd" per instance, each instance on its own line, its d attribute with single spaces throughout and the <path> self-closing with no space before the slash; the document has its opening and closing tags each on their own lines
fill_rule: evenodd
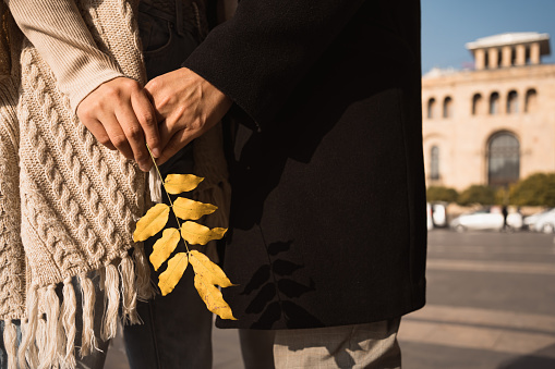
<svg viewBox="0 0 555 369">
<path fill-rule="evenodd" d="M 555 369 L 553 235 L 429 236 L 427 305 L 402 319 L 403 369 Z M 236 331 L 215 329 L 214 347 L 215 369 L 243 369 Z M 120 339 L 105 368 L 129 369 Z"/>
</svg>

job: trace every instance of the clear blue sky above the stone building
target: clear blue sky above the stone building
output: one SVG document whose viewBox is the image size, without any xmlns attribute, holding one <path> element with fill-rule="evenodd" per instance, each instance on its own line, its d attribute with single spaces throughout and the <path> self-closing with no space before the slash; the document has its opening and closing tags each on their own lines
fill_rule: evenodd
<svg viewBox="0 0 555 369">
<path fill-rule="evenodd" d="M 507 32 L 539 32 L 551 36 L 555 63 L 555 0 L 421 0 L 422 72 L 433 66 L 461 69 L 472 62 L 464 48 L 480 37 Z"/>
</svg>

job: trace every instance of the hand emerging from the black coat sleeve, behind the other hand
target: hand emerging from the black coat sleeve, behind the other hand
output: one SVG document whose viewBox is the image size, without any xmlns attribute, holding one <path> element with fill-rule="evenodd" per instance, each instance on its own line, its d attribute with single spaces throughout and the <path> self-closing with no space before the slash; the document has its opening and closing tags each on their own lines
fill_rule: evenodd
<svg viewBox="0 0 555 369">
<path fill-rule="evenodd" d="M 153 78 L 145 86 L 158 114 L 164 164 L 194 138 L 218 123 L 231 107 L 231 99 L 209 82 L 181 67 Z"/>
</svg>

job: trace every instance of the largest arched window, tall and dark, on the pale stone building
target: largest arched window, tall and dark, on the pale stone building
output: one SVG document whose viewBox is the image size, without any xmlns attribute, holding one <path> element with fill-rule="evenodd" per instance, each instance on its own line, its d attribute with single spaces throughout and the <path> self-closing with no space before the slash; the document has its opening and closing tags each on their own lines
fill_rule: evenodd
<svg viewBox="0 0 555 369">
<path fill-rule="evenodd" d="M 520 176 L 520 144 L 515 135 L 499 132 L 487 147 L 487 182 L 491 186 L 506 186 Z"/>
</svg>

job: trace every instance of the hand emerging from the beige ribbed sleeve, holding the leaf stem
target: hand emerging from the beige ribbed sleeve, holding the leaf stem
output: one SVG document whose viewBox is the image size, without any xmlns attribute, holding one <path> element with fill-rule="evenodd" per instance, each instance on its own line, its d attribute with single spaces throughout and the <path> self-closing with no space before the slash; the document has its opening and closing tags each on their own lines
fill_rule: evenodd
<svg viewBox="0 0 555 369">
<path fill-rule="evenodd" d="M 77 116 L 100 144 L 135 159 L 142 171 L 153 165 L 145 138 L 153 155 L 160 153 L 156 113 L 134 79 L 118 77 L 105 82 L 81 101 Z"/>
</svg>

